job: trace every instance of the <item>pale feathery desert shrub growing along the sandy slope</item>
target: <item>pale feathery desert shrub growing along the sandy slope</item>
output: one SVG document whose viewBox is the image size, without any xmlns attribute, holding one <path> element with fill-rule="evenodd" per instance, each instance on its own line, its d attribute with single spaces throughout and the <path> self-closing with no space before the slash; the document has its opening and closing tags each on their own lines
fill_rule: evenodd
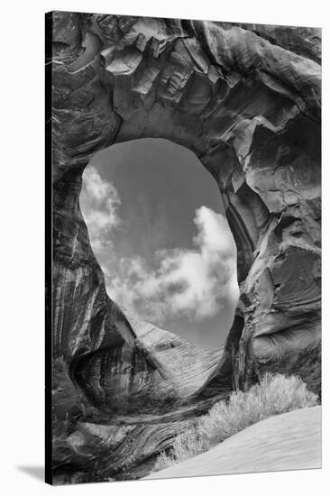
<svg viewBox="0 0 330 496">
<path fill-rule="evenodd" d="M 193 456 L 252 426 L 263 418 L 295 409 L 314 407 L 317 396 L 296 376 L 266 373 L 246 392 L 234 391 L 198 419 L 197 427 L 177 436 L 170 452 L 160 453 L 153 471 L 158 472 Z"/>
</svg>

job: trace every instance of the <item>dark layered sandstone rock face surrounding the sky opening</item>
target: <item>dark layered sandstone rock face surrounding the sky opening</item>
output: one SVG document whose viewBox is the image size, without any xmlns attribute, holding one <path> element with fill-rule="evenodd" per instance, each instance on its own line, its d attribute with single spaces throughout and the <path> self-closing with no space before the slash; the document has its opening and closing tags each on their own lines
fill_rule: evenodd
<svg viewBox="0 0 330 496">
<path fill-rule="evenodd" d="M 152 456 L 265 371 L 320 390 L 320 32 L 52 14 L 55 482 L 141 477 Z M 161 137 L 215 178 L 241 299 L 206 353 L 108 298 L 79 210 L 97 152 Z"/>
</svg>

